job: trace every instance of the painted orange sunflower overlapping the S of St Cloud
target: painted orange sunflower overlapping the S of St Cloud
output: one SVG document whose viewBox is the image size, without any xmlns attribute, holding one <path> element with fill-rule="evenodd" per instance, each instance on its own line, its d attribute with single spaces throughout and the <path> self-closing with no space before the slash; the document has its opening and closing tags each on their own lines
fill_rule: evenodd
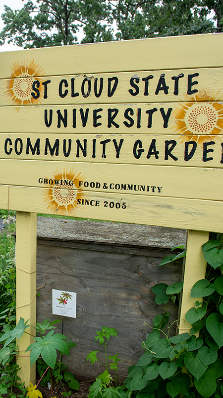
<svg viewBox="0 0 223 398">
<path fill-rule="evenodd" d="M 11 78 L 7 79 L 7 86 L 5 95 L 10 97 L 15 105 L 35 105 L 40 103 L 42 93 L 44 90 L 43 85 L 40 84 L 39 91 L 40 97 L 34 99 L 31 95 L 33 92 L 33 82 L 36 80 L 35 77 L 43 76 L 43 70 L 34 60 L 22 62 L 15 62 L 11 67 Z M 43 79 L 39 79 L 41 83 Z M 18 109 L 17 109 L 18 110 Z"/>
</svg>

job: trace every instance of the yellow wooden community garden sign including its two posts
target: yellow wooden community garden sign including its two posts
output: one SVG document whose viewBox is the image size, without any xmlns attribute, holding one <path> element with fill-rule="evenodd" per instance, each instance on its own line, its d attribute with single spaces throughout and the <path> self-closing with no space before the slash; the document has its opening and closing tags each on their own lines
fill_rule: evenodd
<svg viewBox="0 0 223 398">
<path fill-rule="evenodd" d="M 190 327 L 201 244 L 223 232 L 222 45 L 208 34 L 0 53 L 0 208 L 17 210 L 17 317 L 31 334 L 37 212 L 189 229 Z"/>
</svg>

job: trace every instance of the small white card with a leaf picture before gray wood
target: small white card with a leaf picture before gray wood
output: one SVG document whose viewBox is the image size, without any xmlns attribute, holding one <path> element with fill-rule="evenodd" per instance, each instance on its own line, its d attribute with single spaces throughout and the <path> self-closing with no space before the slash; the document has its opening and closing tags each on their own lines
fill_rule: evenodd
<svg viewBox="0 0 223 398">
<path fill-rule="evenodd" d="M 76 318 L 77 294 L 52 289 L 52 313 Z"/>
</svg>

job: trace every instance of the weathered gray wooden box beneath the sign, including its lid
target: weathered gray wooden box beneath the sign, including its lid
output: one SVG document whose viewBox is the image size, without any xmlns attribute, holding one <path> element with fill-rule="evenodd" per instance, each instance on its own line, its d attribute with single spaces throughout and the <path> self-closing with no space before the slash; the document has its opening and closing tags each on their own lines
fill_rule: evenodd
<svg viewBox="0 0 223 398">
<path fill-rule="evenodd" d="M 64 356 L 64 363 L 77 378 L 94 379 L 103 368 L 86 362 L 86 356 L 99 350 L 104 358 L 94 341 L 96 331 L 115 327 L 118 337 L 111 338 L 108 354 L 119 354 L 118 374 L 126 375 L 143 353 L 141 342 L 151 331 L 153 317 L 163 310 L 151 287 L 182 278 L 182 263 L 159 263 L 170 254 L 167 247 L 185 243 L 185 230 L 38 218 L 37 287 L 52 283 L 37 298 L 37 320 L 59 318 L 52 315 L 52 289 L 76 292 L 77 317 L 64 318 L 63 332 L 77 346 L 70 357 Z M 177 311 L 169 308 L 173 321 Z"/>
</svg>

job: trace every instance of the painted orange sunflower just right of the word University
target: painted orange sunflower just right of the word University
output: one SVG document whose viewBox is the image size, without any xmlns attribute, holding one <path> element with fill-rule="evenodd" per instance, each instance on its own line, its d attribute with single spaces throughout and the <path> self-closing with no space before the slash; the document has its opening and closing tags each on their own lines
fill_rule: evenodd
<svg viewBox="0 0 223 398">
<path fill-rule="evenodd" d="M 194 140 L 202 144 L 223 131 L 223 103 L 218 102 L 220 91 L 200 90 L 193 97 L 185 95 L 188 102 L 177 104 L 172 111 L 173 129 L 185 137 L 181 142 Z"/>
</svg>

